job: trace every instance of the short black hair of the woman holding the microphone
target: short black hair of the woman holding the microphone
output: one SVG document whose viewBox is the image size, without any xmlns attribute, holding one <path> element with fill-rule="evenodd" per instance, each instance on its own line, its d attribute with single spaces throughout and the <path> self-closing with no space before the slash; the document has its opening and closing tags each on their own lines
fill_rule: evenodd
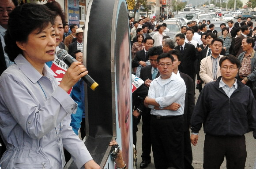
<svg viewBox="0 0 256 169">
<path fill-rule="evenodd" d="M 8 29 L 4 36 L 5 52 L 11 61 L 23 54 L 16 42 L 26 42 L 31 32 L 41 32 L 49 24 L 54 24 L 56 14 L 45 5 L 23 4 L 9 14 Z"/>
</svg>

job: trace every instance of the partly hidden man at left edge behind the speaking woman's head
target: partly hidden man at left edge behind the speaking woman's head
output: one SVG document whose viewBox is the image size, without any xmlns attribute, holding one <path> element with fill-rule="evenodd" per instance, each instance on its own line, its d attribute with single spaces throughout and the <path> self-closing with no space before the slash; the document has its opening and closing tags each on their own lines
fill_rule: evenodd
<svg viewBox="0 0 256 169">
<path fill-rule="evenodd" d="M 9 14 L 16 6 L 18 6 L 17 0 L 0 1 L 0 75 L 13 64 L 13 62 L 9 60 L 8 55 L 4 52 L 4 34 L 7 29 Z"/>
</svg>

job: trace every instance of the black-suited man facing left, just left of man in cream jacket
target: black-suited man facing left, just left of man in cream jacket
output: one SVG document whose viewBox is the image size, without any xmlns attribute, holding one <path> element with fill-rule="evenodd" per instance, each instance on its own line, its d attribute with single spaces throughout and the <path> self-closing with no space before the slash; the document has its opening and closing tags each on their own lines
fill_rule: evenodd
<svg viewBox="0 0 256 169">
<path fill-rule="evenodd" d="M 176 35 L 176 42 L 178 46 L 174 49 L 181 52 L 181 65 L 179 65 L 179 71 L 195 80 L 196 71 L 193 63 L 197 59 L 196 48 L 192 44 L 185 43 L 185 36 L 183 33 Z"/>
</svg>

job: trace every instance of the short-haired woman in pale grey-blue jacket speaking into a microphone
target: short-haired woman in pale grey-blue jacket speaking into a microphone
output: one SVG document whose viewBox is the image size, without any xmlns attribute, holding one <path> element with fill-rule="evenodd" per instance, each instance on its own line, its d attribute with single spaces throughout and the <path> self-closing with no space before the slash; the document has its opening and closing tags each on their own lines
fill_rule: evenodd
<svg viewBox="0 0 256 169">
<path fill-rule="evenodd" d="M 79 169 L 100 169 L 69 126 L 76 104 L 67 91 L 86 68 L 74 62 L 58 86 L 45 65 L 56 50 L 55 18 L 39 4 L 23 4 L 9 14 L 5 51 L 15 64 L 0 76 L 0 134 L 7 147 L 2 169 L 63 169 L 63 148 Z"/>
</svg>

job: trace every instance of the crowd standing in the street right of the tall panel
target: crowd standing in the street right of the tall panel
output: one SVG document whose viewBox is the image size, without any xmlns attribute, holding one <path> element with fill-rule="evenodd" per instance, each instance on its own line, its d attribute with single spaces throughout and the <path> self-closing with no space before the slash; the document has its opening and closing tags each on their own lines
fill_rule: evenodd
<svg viewBox="0 0 256 169">
<path fill-rule="evenodd" d="M 170 38 L 165 23 L 145 18 L 142 32 L 136 32 L 136 21 L 130 18 L 132 70 L 144 81 L 143 93 L 132 96 L 133 121 L 137 124 L 142 119 L 140 168 L 151 163 L 152 146 L 156 169 L 193 169 L 191 144 L 196 146 L 203 124 L 203 167 L 219 169 L 226 156 L 227 169 L 244 169 L 244 134 L 253 131 L 256 139 L 256 29 L 252 22 L 238 18 L 235 24 L 222 23 L 217 32 L 210 21 L 199 25 L 192 21 Z M 157 32 L 151 37 L 152 31 Z M 133 42 L 134 32 L 140 47 Z M 196 89 L 200 95 L 195 104 Z"/>
</svg>

